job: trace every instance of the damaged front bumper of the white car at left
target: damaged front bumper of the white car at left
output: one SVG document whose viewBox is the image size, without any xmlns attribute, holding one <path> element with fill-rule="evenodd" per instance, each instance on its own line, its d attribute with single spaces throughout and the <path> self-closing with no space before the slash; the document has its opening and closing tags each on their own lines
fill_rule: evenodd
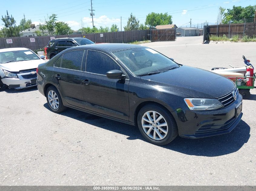
<svg viewBox="0 0 256 191">
<path fill-rule="evenodd" d="M 18 78 L 2 78 L 2 83 L 6 84 L 10 89 L 22 89 L 36 86 L 36 74 L 32 74 L 31 72 L 24 72 L 17 74 L 17 76 Z"/>
</svg>

